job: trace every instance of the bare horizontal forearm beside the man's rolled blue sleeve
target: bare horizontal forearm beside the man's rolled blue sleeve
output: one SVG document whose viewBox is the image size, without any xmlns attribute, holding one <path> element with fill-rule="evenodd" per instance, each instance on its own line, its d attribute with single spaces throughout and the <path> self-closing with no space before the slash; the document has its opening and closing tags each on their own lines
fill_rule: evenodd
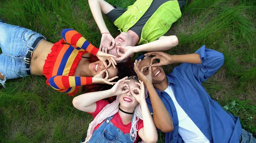
<svg viewBox="0 0 256 143">
<path fill-rule="evenodd" d="M 201 64 L 201 59 L 199 54 L 197 53 L 191 53 L 186 55 L 173 55 L 172 63 Z"/>
</svg>

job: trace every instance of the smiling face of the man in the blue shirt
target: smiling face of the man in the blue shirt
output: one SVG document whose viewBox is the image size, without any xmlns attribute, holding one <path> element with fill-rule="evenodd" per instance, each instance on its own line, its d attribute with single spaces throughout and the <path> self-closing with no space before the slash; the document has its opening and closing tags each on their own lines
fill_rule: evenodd
<svg viewBox="0 0 256 143">
<path fill-rule="evenodd" d="M 147 59 L 143 59 L 139 64 L 139 70 L 141 67 L 144 67 L 146 65 L 150 65 L 150 59 L 151 57 L 148 57 Z M 156 63 L 157 61 L 154 60 L 152 64 Z M 148 68 L 145 68 L 143 70 L 144 75 L 148 75 Z M 164 81 L 166 78 L 166 74 L 164 73 L 163 67 L 152 67 L 152 84 L 159 84 Z"/>
</svg>

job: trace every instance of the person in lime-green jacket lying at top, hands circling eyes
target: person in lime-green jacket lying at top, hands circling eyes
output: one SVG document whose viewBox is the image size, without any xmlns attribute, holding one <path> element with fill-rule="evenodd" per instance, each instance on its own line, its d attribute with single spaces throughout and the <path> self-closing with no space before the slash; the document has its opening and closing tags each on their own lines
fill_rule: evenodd
<svg viewBox="0 0 256 143">
<path fill-rule="evenodd" d="M 136 52 L 169 50 L 178 44 L 176 36 L 163 36 L 181 17 L 186 0 L 137 0 L 127 9 L 104 0 L 88 0 L 94 20 L 102 34 L 99 50 L 124 62 Z M 114 39 L 102 17 L 105 14 L 121 34 Z M 136 46 L 137 45 L 137 46 Z"/>
</svg>

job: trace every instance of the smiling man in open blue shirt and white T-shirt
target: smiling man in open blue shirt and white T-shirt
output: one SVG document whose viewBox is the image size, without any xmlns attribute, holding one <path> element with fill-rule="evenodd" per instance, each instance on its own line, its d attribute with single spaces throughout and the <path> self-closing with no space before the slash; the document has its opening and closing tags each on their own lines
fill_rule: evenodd
<svg viewBox="0 0 256 143">
<path fill-rule="evenodd" d="M 201 84 L 222 66 L 222 53 L 202 46 L 192 54 L 150 52 L 137 60 L 134 70 L 148 89 L 148 108 L 155 122 L 161 120 L 161 126 L 159 121 L 156 126 L 172 131 L 166 133 L 166 143 L 256 143 L 252 134 L 241 128 L 239 118 L 212 100 Z M 162 65 L 178 62 L 183 64 L 164 73 Z M 160 108 L 156 100 L 166 108 Z M 159 116 L 158 112 L 166 110 L 169 114 Z"/>
</svg>

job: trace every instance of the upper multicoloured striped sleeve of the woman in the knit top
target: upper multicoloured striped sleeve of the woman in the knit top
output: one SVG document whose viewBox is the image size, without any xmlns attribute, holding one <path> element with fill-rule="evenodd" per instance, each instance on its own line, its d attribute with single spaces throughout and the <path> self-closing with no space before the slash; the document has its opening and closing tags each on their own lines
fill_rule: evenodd
<svg viewBox="0 0 256 143">
<path fill-rule="evenodd" d="M 94 56 L 99 51 L 98 48 L 94 47 L 81 34 L 79 34 L 77 31 L 73 29 L 64 29 L 61 32 L 61 35 L 67 43 L 72 45 L 77 50 L 86 50 Z"/>
</svg>

